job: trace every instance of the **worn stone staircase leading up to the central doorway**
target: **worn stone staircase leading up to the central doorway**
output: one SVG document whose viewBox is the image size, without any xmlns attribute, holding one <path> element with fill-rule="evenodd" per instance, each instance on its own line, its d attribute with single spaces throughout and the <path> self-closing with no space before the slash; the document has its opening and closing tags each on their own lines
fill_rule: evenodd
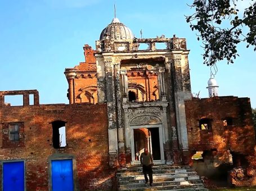
<svg viewBox="0 0 256 191">
<path fill-rule="evenodd" d="M 142 167 L 120 169 L 116 178 L 119 181 L 118 190 L 208 190 L 190 166 L 154 166 L 152 187 L 145 184 Z"/>
</svg>

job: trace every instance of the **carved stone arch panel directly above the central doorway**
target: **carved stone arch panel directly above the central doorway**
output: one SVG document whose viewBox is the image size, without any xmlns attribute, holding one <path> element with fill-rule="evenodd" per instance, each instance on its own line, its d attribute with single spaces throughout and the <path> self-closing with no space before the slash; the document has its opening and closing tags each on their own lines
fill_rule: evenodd
<svg viewBox="0 0 256 191">
<path fill-rule="evenodd" d="M 163 121 L 163 111 L 160 107 L 129 108 L 130 125 L 151 125 Z"/>
</svg>

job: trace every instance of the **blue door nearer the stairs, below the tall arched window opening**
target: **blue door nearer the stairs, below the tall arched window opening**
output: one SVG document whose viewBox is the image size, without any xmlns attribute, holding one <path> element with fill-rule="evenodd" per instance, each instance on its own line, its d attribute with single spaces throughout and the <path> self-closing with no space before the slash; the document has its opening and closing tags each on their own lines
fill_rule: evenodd
<svg viewBox="0 0 256 191">
<path fill-rule="evenodd" d="M 72 160 L 52 160 L 52 191 L 73 191 Z"/>
</svg>

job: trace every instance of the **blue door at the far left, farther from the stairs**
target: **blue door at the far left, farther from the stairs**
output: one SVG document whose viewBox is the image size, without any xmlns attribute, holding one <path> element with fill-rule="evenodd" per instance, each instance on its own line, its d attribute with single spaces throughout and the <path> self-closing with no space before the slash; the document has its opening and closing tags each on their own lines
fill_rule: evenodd
<svg viewBox="0 0 256 191">
<path fill-rule="evenodd" d="M 24 191 L 24 162 L 3 162 L 3 191 Z"/>
</svg>

